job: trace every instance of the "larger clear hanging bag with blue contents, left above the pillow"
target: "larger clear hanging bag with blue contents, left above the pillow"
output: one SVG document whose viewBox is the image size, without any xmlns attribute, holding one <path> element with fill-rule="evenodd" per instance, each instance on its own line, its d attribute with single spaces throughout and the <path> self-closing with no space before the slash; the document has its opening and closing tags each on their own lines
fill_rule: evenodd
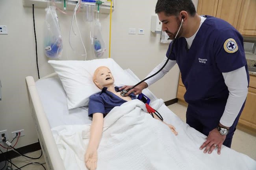
<svg viewBox="0 0 256 170">
<path fill-rule="evenodd" d="M 49 58 L 60 58 L 63 45 L 56 7 L 45 9 L 45 55 Z"/>
</svg>

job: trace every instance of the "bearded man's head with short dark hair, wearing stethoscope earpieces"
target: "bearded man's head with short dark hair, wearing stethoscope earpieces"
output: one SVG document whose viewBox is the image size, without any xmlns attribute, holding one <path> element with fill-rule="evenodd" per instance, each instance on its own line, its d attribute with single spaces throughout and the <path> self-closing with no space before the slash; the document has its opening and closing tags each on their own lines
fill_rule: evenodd
<svg viewBox="0 0 256 170">
<path fill-rule="evenodd" d="M 186 21 L 189 16 L 196 14 L 192 0 L 158 0 L 155 12 L 162 22 L 162 31 L 165 31 L 171 40 L 176 36 L 182 19 L 184 21 L 177 38 L 185 36 Z"/>
</svg>

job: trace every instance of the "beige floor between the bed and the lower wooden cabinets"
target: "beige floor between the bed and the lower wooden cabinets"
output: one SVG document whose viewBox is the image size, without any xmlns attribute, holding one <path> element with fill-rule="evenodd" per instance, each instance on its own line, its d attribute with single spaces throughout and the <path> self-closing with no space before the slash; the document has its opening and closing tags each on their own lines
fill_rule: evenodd
<svg viewBox="0 0 256 170">
<path fill-rule="evenodd" d="M 168 106 L 168 108 L 186 122 L 187 107 L 175 103 Z M 253 135 L 237 129 L 233 136 L 231 148 L 256 160 L 256 137 Z"/>
</svg>

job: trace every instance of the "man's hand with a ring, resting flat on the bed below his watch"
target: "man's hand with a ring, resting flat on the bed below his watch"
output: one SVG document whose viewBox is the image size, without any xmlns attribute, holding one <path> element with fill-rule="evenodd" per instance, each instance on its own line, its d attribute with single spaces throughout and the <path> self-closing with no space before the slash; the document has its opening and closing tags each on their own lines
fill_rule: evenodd
<svg viewBox="0 0 256 170">
<path fill-rule="evenodd" d="M 221 146 L 226 139 L 226 135 L 221 135 L 217 128 L 215 128 L 211 130 L 206 139 L 207 140 L 200 147 L 200 150 L 202 150 L 205 147 L 204 153 L 207 153 L 209 151 L 208 154 L 211 154 L 211 152 L 217 147 L 218 154 L 220 155 Z"/>
</svg>

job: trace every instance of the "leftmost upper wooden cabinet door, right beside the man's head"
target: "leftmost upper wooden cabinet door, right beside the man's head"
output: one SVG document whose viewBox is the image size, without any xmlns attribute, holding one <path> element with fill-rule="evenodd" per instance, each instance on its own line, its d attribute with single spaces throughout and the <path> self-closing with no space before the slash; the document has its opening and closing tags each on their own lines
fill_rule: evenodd
<svg viewBox="0 0 256 170">
<path fill-rule="evenodd" d="M 198 0 L 197 14 L 216 16 L 219 0 Z"/>
</svg>

